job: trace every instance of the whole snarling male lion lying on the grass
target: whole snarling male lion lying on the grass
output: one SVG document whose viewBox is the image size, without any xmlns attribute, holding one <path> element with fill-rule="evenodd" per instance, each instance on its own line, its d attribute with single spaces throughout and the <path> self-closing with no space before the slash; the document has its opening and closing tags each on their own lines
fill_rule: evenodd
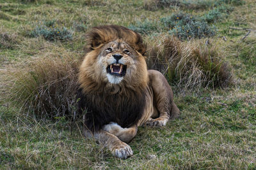
<svg viewBox="0 0 256 170">
<path fill-rule="evenodd" d="M 147 70 L 146 46 L 140 34 L 119 25 L 93 27 L 79 67 L 77 106 L 85 113 L 84 136 L 127 159 L 128 143 L 141 125 L 164 126 L 179 116 L 173 92 L 163 74 Z"/>
</svg>

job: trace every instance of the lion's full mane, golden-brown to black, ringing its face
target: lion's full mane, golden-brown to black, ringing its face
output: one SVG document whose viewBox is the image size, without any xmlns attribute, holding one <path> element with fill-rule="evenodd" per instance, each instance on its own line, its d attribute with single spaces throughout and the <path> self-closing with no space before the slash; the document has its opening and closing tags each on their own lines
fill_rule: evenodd
<svg viewBox="0 0 256 170">
<path fill-rule="evenodd" d="M 118 85 L 103 81 L 95 62 L 102 46 L 116 39 L 125 41 L 140 55 L 136 73 Z M 85 113 L 86 127 L 90 131 L 99 131 L 109 122 L 122 127 L 136 124 L 143 114 L 148 88 L 147 65 L 142 57 L 146 46 L 140 34 L 122 26 L 104 25 L 93 27 L 86 41 L 88 47 L 79 70 L 77 92 L 78 112 Z"/>
</svg>

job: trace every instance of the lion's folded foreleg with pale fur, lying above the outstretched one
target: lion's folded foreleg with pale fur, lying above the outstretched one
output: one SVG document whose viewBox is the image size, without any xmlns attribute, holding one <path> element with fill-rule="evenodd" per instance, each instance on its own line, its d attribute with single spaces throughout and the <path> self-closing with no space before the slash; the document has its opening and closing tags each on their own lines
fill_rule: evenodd
<svg viewBox="0 0 256 170">
<path fill-rule="evenodd" d="M 129 143 L 138 131 L 137 125 L 133 125 L 129 128 L 122 128 L 120 125 L 114 122 L 111 122 L 108 125 L 104 125 L 102 129 L 111 134 L 114 134 L 117 138 L 119 138 L 121 141 L 124 141 L 125 143 Z"/>
</svg>

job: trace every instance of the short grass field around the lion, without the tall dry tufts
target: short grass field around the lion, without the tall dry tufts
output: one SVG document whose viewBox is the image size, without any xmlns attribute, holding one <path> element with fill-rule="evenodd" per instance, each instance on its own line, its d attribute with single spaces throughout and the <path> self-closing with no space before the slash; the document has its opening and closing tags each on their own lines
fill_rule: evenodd
<svg viewBox="0 0 256 170">
<path fill-rule="evenodd" d="M 256 3 L 214 2 L 0 0 L 0 169 L 256 169 Z M 223 2 L 225 9 L 220 8 Z M 172 15 L 195 17 L 193 23 L 200 25 L 187 25 L 190 34 L 179 25 L 182 20 L 170 22 Z M 83 138 L 78 123 L 38 118 L 20 108 L 22 98 L 16 104 L 7 100 L 13 95 L 6 91 L 9 73 L 28 71 L 31 61 L 44 57 L 73 57 L 79 64 L 86 31 L 102 24 L 139 31 L 149 47 L 173 34 L 181 39 L 180 46 L 209 46 L 207 55 L 221 57 L 229 68 L 223 73 L 232 78 L 223 84 L 212 69 L 204 69 L 204 83 L 202 77 L 189 83 L 184 79 L 191 74 L 179 79 L 168 70 L 165 76 L 181 115 L 166 127 L 140 127 L 130 143 L 134 155 L 127 160 Z M 230 27 L 252 31 L 246 36 L 248 31 Z"/>
</svg>

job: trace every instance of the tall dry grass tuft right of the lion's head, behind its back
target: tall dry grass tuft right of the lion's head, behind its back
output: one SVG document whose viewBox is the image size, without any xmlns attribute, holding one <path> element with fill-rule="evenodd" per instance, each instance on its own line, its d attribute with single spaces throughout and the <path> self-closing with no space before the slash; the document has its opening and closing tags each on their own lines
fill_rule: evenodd
<svg viewBox="0 0 256 170">
<path fill-rule="evenodd" d="M 165 35 L 149 38 L 148 42 L 148 68 L 161 71 L 182 90 L 227 87 L 232 82 L 230 66 L 216 44 L 181 42 Z"/>
</svg>

